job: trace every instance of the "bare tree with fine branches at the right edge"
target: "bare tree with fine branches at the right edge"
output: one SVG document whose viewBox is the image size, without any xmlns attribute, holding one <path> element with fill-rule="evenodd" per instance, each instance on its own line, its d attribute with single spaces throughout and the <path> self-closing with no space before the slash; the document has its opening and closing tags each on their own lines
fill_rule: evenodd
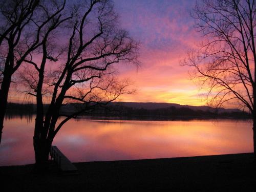
<svg viewBox="0 0 256 192">
<path fill-rule="evenodd" d="M 256 150 L 255 1 L 202 0 L 195 7 L 196 29 L 205 37 L 198 51 L 189 51 L 182 65 L 206 89 L 208 103 L 220 107 L 235 102 L 253 118 Z M 234 104 L 234 103 L 233 103 Z"/>
</svg>

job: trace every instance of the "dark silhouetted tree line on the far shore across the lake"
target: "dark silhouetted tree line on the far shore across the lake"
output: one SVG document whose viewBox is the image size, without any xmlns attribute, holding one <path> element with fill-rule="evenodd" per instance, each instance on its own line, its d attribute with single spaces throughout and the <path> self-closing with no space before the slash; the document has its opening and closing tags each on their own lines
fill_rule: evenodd
<svg viewBox="0 0 256 192">
<path fill-rule="evenodd" d="M 62 106 L 61 113 L 63 116 L 69 113 L 79 111 L 81 104 L 73 103 L 66 106 Z M 49 104 L 45 104 L 44 108 L 47 110 Z M 18 114 L 35 114 L 36 105 L 33 103 L 8 103 L 7 113 L 18 115 Z M 250 119 L 251 115 L 247 112 L 219 112 L 218 111 L 203 111 L 193 110 L 186 107 L 177 108 L 170 106 L 168 108 L 160 109 L 144 109 L 144 108 L 131 108 L 122 105 L 109 105 L 109 106 L 97 106 L 90 111 L 84 112 L 81 115 L 90 116 L 116 116 L 126 117 L 129 119 L 185 119 L 185 118 L 239 118 L 239 119 Z"/>
</svg>

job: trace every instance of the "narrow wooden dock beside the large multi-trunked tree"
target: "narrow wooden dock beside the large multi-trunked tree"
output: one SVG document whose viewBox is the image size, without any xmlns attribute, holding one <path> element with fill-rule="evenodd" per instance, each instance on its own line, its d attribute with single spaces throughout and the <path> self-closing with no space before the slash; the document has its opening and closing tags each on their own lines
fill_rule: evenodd
<svg viewBox="0 0 256 192">
<path fill-rule="evenodd" d="M 51 159 L 58 164 L 63 174 L 77 174 L 77 168 L 63 153 L 61 153 L 57 146 L 51 146 L 50 156 Z"/>
</svg>

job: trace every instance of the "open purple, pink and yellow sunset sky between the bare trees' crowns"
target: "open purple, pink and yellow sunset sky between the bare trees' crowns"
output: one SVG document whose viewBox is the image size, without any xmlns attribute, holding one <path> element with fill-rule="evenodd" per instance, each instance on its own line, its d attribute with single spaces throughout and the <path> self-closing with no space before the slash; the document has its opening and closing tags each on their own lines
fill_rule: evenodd
<svg viewBox="0 0 256 192">
<path fill-rule="evenodd" d="M 129 78 L 136 94 L 124 95 L 120 101 L 168 102 L 205 105 L 188 67 L 180 66 L 187 50 L 202 40 L 190 17 L 194 0 L 114 0 L 120 25 L 140 41 L 141 65 L 119 65 L 119 77 Z M 24 101 L 12 92 L 9 101 Z"/>
</svg>

